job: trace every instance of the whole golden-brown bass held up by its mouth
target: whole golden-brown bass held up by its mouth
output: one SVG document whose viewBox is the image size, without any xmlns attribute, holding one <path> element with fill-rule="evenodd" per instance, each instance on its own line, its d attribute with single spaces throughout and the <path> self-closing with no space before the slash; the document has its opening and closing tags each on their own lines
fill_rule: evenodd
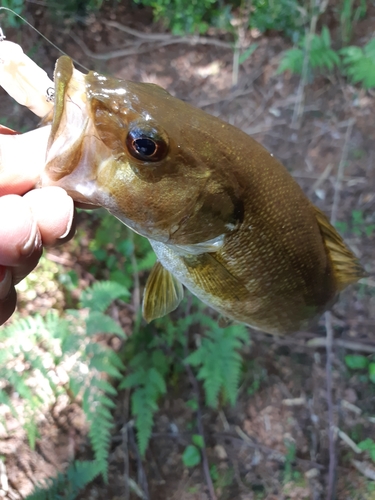
<svg viewBox="0 0 375 500">
<path fill-rule="evenodd" d="M 230 319 L 290 333 L 364 276 L 265 148 L 156 85 L 83 75 L 64 56 L 48 120 L 42 184 L 103 206 L 151 242 L 148 321 L 178 306 L 183 284 Z"/>
</svg>

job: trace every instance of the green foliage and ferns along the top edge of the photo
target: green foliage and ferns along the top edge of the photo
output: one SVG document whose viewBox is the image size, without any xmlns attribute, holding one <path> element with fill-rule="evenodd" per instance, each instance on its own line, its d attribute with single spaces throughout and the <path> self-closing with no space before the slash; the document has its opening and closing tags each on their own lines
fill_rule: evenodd
<svg viewBox="0 0 375 500">
<path fill-rule="evenodd" d="M 333 9 L 340 26 L 340 45 L 337 50 L 331 42 L 330 32 L 324 24 L 316 32 L 318 21 L 328 3 L 307 0 L 133 0 L 139 8 L 150 7 L 156 21 L 175 35 L 205 34 L 210 29 L 220 29 L 238 38 L 237 26 L 256 29 L 261 33 L 276 31 L 295 43 L 295 47 L 284 52 L 278 73 L 290 71 L 302 75 L 311 82 L 317 73 L 332 72 L 335 68 L 354 84 L 365 89 L 375 87 L 375 40 L 363 48 L 348 46 L 358 21 L 366 15 L 368 0 L 343 0 Z M 3 2 L 4 4 L 4 2 Z M 90 12 L 98 12 L 104 0 L 69 0 L 57 3 L 47 0 L 50 15 L 74 20 L 84 19 Z M 6 0 L 5 7 L 22 14 L 24 0 Z M 114 5 L 115 8 L 115 5 Z M 5 16 L 6 23 L 15 26 L 19 20 L 12 14 Z M 256 47 L 243 49 L 240 64 L 254 52 Z M 307 63 L 307 64 L 306 64 Z M 306 66 L 306 68 L 305 68 Z"/>
</svg>

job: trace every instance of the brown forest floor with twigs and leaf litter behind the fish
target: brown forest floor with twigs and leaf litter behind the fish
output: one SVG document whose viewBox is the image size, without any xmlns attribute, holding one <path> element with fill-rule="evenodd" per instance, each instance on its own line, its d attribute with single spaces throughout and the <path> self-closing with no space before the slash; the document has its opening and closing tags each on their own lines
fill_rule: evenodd
<svg viewBox="0 0 375 500">
<path fill-rule="evenodd" d="M 365 373 L 350 371 L 344 361 L 347 354 L 375 353 L 375 93 L 359 90 L 337 74 L 318 76 L 306 86 L 300 123 L 292 128 L 300 81 L 276 75 L 280 55 L 289 47 L 279 36 L 252 33 L 250 39 L 249 34 L 249 42 L 258 47 L 240 65 L 233 86 L 233 51 L 229 46 L 193 44 L 188 39 L 166 45 L 167 34 L 165 39 L 147 38 L 160 27 L 152 24 L 145 11 L 125 7 L 117 11 L 116 21 L 138 30 L 135 36 L 106 24 L 114 15 L 105 11 L 100 17 L 90 16 L 85 27 L 70 26 L 74 39 L 66 26 L 56 30 L 42 7 L 34 6 L 28 19 L 87 67 L 128 80 L 157 83 L 174 96 L 241 128 L 279 158 L 312 202 L 328 215 L 336 197 L 338 227 L 370 278 L 343 292 L 333 308 L 330 370 L 334 450 L 329 448 L 324 318 L 314 329 L 288 338 L 251 331 L 251 347 L 245 354 L 246 380 L 237 405 L 220 411 L 203 407 L 201 420 L 209 463 L 216 466 L 218 499 L 326 498 L 333 459 L 337 499 L 375 499 L 375 463 L 353 448 L 353 442 L 365 438 L 375 441 L 375 384 Z M 374 23 L 372 9 L 357 25 L 353 42 L 363 45 L 373 35 Z M 58 54 L 45 42 L 40 45 L 37 35 L 26 28 L 19 32 L 9 29 L 6 34 L 27 49 L 36 47 L 35 60 L 52 71 Z M 131 53 L 113 57 L 114 51 L 124 46 Z M 95 60 L 89 51 L 107 55 Z M 35 125 L 30 115 L 20 115 L 3 94 L 0 99 L 4 125 L 22 126 L 22 130 Z M 342 178 L 338 177 L 340 164 L 344 167 Z M 81 214 L 79 227 L 84 228 L 89 217 Z M 85 262 L 85 245 L 87 238 L 78 249 L 67 245 L 48 250 L 51 259 L 66 270 L 74 260 L 81 284 L 85 282 L 85 265 L 90 264 Z M 64 301 L 61 290 L 53 286 L 34 294 L 32 300 L 22 287 L 20 294 L 21 314 Z M 133 319 L 128 313 L 130 332 Z M 186 384 L 171 389 L 160 402 L 143 462 L 130 450 L 130 473 L 141 488 L 147 482 L 151 500 L 210 498 L 202 467 L 187 469 L 181 460 L 189 443 L 192 412 L 186 401 L 192 393 L 193 388 Z M 129 411 L 128 394 L 117 404 L 116 417 L 122 422 Z M 16 422 L 1 436 L 0 455 L 8 479 L 7 491 L 1 490 L 0 484 L 1 498 L 24 498 L 38 480 L 61 470 L 72 457 L 85 454 L 86 424 L 81 410 L 67 405 L 58 413 L 54 411 L 41 423 L 41 437 L 33 451 Z M 178 429 L 174 434 L 172 426 Z M 113 435 L 109 483 L 95 481 L 80 498 L 126 498 L 120 428 Z"/>
</svg>

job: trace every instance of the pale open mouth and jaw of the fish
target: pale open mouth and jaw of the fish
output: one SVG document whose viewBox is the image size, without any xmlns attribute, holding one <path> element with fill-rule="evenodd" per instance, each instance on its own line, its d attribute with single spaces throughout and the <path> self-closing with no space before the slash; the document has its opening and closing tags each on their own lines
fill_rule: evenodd
<svg viewBox="0 0 375 500">
<path fill-rule="evenodd" d="M 41 185 L 60 186 L 75 201 L 98 206 L 94 184 L 103 161 L 103 145 L 90 116 L 86 75 L 74 68 L 68 56 L 62 56 L 56 62 L 54 81 L 52 125 Z"/>
</svg>

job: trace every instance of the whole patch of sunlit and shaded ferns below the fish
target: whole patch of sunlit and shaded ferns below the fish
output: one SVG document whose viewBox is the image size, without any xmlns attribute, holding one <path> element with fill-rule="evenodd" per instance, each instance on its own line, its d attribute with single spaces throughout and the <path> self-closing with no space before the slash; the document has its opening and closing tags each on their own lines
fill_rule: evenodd
<svg viewBox="0 0 375 500">
<path fill-rule="evenodd" d="M 62 395 L 82 407 L 89 426 L 93 460 L 75 462 L 65 474 L 41 485 L 32 499 L 73 499 L 94 477 L 101 475 L 106 480 L 114 425 L 112 411 L 120 390 L 130 391 L 131 418 L 142 456 L 148 447 L 159 403 L 168 387 L 173 390 L 183 383 L 187 366 L 194 377 L 202 381 L 207 405 L 218 408 L 236 402 L 243 371 L 240 351 L 249 341 L 246 328 L 220 328 L 206 315 L 204 305 L 189 297 L 189 313 L 181 317 L 167 316 L 150 325 L 137 320 L 132 335 L 127 338 L 110 314 L 114 302 L 126 302 L 130 297 L 128 288 L 116 281 L 118 272 L 122 271 L 124 276 L 127 273 L 130 279 L 129 275 L 134 276 L 134 263 L 138 270 L 149 269 L 154 258 L 150 257 L 146 240 L 134 235 L 129 241 L 123 235 L 128 230 L 116 219 L 108 219 L 105 214 L 95 224 L 95 238 L 89 247 L 96 259 L 103 260 L 98 267 L 94 264 L 92 270 L 99 275 L 102 272 L 100 267 L 105 259 L 100 253 L 101 241 L 107 254 L 114 256 L 108 259 L 109 268 L 104 273 L 112 280 L 96 282 L 81 292 L 77 302 L 73 295 L 79 286 L 78 277 L 70 273 L 60 281 L 71 309 L 63 313 L 52 309 L 44 316 L 16 319 L 0 330 L 0 403 L 23 422 L 30 446 L 35 448 L 39 438 L 41 415 Z M 104 231 L 105 225 L 111 238 Z M 46 286 L 54 282 L 53 272 L 56 270 L 50 265 L 42 266 L 39 278 L 36 271 L 34 278 L 30 275 L 26 280 L 24 293 L 28 293 L 29 288 L 32 291 L 36 282 Z M 187 299 L 181 307 L 184 304 L 187 307 Z M 195 343 L 192 341 L 197 332 L 200 339 Z M 103 341 L 108 336 L 119 339 L 122 346 L 119 352 Z M 58 373 L 65 374 L 64 383 Z M 22 414 L 13 406 L 15 393 L 22 400 Z M 195 399 L 188 401 L 187 406 L 193 412 L 198 411 Z M 5 418 L 3 424 L 6 426 Z M 194 427 L 195 422 L 191 427 L 191 444 L 182 457 L 186 467 L 200 463 L 200 450 L 204 446 L 203 437 L 194 433 Z"/>
</svg>

